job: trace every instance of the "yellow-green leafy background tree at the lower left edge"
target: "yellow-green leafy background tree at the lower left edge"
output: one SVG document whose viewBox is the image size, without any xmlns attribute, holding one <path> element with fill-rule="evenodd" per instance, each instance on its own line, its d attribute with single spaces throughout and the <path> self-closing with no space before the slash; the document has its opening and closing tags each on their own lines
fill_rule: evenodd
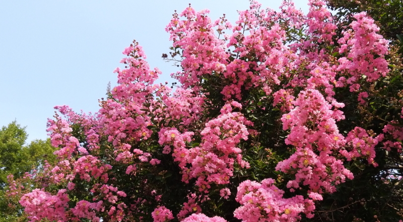
<svg viewBox="0 0 403 222">
<path fill-rule="evenodd" d="M 16 121 L 4 126 L 0 130 L 0 221 L 26 221 L 18 199 L 8 197 L 10 182 L 24 180 L 26 172 L 40 170 L 45 161 L 55 162 L 49 140 L 34 140 L 26 144 L 27 133 Z M 8 180 L 8 176 L 13 175 Z M 22 181 L 21 181 L 22 182 Z M 21 184 L 23 184 L 22 182 Z M 35 184 L 26 184 L 16 191 L 30 191 Z M 22 195 L 22 194 L 21 194 Z"/>
</svg>

